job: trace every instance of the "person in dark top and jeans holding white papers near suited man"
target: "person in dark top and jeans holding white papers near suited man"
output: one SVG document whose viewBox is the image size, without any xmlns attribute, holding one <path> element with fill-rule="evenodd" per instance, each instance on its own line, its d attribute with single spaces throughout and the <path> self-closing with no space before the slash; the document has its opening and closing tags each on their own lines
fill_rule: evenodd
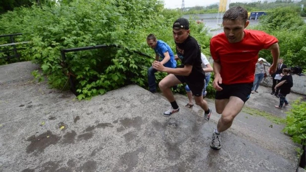
<svg viewBox="0 0 306 172">
<path fill-rule="evenodd" d="M 279 88 L 279 105 L 275 105 L 275 108 L 278 109 L 282 109 L 283 105 L 285 103 L 284 106 L 288 106 L 289 103 L 286 99 L 287 94 L 290 93 L 291 91 L 291 87 L 293 86 L 293 79 L 292 76 L 290 75 L 290 69 L 288 68 L 284 68 L 283 69 L 283 73 L 282 73 L 283 77 L 282 79 L 279 81 L 279 83 L 275 86 L 275 90 L 277 88 Z"/>
</svg>

